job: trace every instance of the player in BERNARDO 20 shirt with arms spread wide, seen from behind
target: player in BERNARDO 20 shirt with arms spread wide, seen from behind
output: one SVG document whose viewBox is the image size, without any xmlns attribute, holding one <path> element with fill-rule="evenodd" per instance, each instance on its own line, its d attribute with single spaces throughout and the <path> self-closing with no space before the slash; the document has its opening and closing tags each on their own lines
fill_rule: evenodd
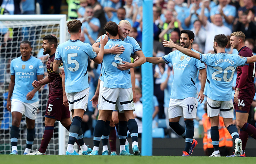
<svg viewBox="0 0 256 164">
<path fill-rule="evenodd" d="M 234 117 L 231 95 L 233 75 L 237 66 L 245 66 L 246 63 L 255 62 L 256 56 L 242 57 L 227 54 L 225 52 L 227 37 L 224 34 L 214 37 L 213 49 L 216 54 L 197 53 L 175 45 L 172 41 L 164 40 L 163 45 L 176 48 L 207 65 L 207 83 L 204 94 L 207 96 L 207 115 L 211 121 L 211 139 L 214 148 L 211 156 L 221 156 L 219 151 L 219 114 L 223 117 L 225 127 L 235 140 L 235 156 L 240 156 L 242 141 L 239 138 L 236 126 L 232 123 Z"/>
</svg>

